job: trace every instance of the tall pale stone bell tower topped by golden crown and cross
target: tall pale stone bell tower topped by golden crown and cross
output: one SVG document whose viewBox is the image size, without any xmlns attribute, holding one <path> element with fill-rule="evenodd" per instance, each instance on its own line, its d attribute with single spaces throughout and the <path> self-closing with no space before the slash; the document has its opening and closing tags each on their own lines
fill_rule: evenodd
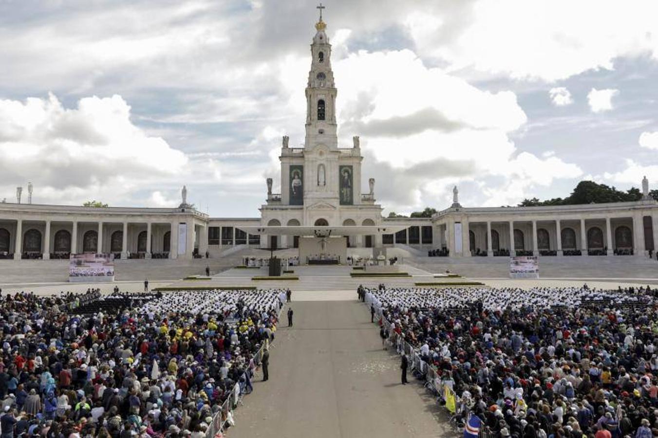
<svg viewBox="0 0 658 438">
<path fill-rule="evenodd" d="M 315 24 L 316 34 L 311 43 L 311 71 L 306 87 L 306 139 L 305 147 L 311 149 L 316 145 L 325 145 L 329 149 L 338 149 L 336 125 L 336 94 L 334 72 L 331 69 L 331 45 L 322 21 L 322 3 L 320 20 Z"/>
</svg>

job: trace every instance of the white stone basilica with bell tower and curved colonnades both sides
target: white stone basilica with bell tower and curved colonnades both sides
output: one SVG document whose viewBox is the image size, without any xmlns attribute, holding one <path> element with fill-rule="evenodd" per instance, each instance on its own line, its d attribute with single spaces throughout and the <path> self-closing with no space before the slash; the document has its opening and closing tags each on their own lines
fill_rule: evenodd
<svg viewBox="0 0 658 438">
<path fill-rule="evenodd" d="M 658 245 L 658 203 L 469 208 L 453 204 L 432 218 L 384 218 L 375 180 L 361 173 L 359 137 L 339 147 L 338 89 L 322 18 L 311 43 L 304 147 L 280 152 L 281 193 L 266 181 L 259 218 L 211 218 L 186 202 L 172 208 L 73 207 L 0 203 L 0 258 L 220 257 L 250 247 L 299 248 L 300 239 L 342 237 L 349 255 L 400 249 L 415 256 L 648 256 Z"/>
</svg>

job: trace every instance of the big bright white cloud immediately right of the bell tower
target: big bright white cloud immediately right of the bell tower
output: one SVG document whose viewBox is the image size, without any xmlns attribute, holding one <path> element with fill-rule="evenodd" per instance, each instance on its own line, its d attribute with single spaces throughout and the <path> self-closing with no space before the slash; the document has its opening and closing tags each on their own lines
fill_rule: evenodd
<svg viewBox="0 0 658 438">
<path fill-rule="evenodd" d="M 559 157 L 537 157 L 515 147 L 509 134 L 524 126 L 526 114 L 511 91 L 482 91 L 429 68 L 408 50 L 360 51 L 333 65 L 340 138 L 344 145 L 351 135 L 363 135 L 372 160 L 365 162 L 372 175 L 363 178 L 384 180 L 378 196 L 390 208 L 409 210 L 421 199 L 444 199 L 453 183 L 490 176 L 502 187 L 517 182 L 522 193 L 509 201 L 514 203 L 536 185 L 582 174 Z M 484 196 L 472 199 L 490 203 Z"/>
</svg>

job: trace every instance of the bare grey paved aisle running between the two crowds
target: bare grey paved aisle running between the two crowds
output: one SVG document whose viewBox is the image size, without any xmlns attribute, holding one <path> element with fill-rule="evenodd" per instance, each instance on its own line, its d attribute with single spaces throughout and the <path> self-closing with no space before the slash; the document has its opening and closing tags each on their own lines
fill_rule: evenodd
<svg viewBox="0 0 658 438">
<path fill-rule="evenodd" d="M 270 379 L 236 410 L 229 437 L 397 438 L 455 436 L 420 383 L 403 386 L 399 358 L 382 350 L 367 307 L 295 301 L 270 351 Z M 284 314 L 286 309 L 284 309 Z"/>
</svg>

